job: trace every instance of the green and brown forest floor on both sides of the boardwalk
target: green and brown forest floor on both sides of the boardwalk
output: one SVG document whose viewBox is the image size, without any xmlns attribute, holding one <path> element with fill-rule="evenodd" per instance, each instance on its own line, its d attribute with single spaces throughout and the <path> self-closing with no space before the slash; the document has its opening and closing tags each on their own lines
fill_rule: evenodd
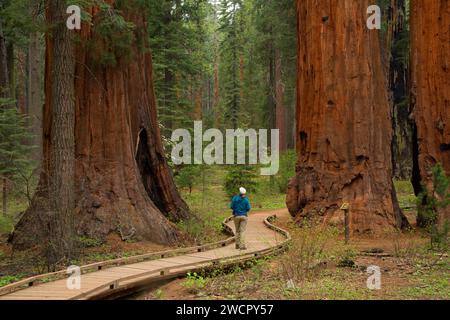
<svg viewBox="0 0 450 320">
<path fill-rule="evenodd" d="M 202 219 L 180 223 L 194 243 L 226 237 L 221 222 L 229 216 L 229 200 L 223 190 L 225 172 L 212 169 L 192 192 L 181 190 L 191 210 Z M 249 195 L 254 210 L 285 207 L 285 195 L 269 178 L 258 178 L 256 192 Z M 415 223 L 415 196 L 409 182 L 395 182 L 399 202 Z M 13 198 L 11 212 L 26 202 Z M 291 250 L 254 260 L 232 269 L 190 275 L 149 288 L 130 299 L 450 299 L 448 248 L 429 250 L 429 238 L 420 231 L 391 234 L 383 238 L 357 238 L 345 245 L 342 230 L 310 225 L 299 228 L 286 214 L 276 224 L 290 231 Z M 47 272 L 45 261 L 30 252 L 13 253 L 6 234 L 13 219 L 0 219 L 0 286 L 32 274 Z M 146 242 L 123 242 L 111 236 L 105 242 L 81 239 L 74 264 L 83 265 L 118 257 L 161 251 L 168 247 Z M 190 245 L 186 243 L 183 245 Z M 370 253 L 372 252 L 372 253 Z M 368 290 L 366 269 L 380 267 L 381 290 Z M 289 282 L 289 285 L 287 284 Z"/>
</svg>

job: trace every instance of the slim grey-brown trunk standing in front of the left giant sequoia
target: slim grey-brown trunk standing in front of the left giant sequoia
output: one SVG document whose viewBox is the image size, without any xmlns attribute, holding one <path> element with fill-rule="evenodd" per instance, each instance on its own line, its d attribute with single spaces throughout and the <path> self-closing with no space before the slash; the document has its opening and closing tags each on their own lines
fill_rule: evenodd
<svg viewBox="0 0 450 320">
<path fill-rule="evenodd" d="M 73 254 L 75 207 L 75 56 L 72 33 L 65 25 L 65 4 L 50 0 L 47 19 L 52 27 L 49 40 L 47 85 L 50 109 L 48 155 L 48 262 L 56 264 Z"/>
</svg>

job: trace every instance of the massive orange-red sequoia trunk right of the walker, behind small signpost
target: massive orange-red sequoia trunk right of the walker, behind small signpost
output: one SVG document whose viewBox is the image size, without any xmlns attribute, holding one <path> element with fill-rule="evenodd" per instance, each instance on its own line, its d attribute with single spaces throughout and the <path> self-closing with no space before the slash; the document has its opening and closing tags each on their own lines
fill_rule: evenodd
<svg viewBox="0 0 450 320">
<path fill-rule="evenodd" d="M 353 233 L 407 222 L 392 183 L 391 115 L 370 1 L 298 0 L 297 176 L 292 215 L 337 222 L 350 204 Z"/>
</svg>

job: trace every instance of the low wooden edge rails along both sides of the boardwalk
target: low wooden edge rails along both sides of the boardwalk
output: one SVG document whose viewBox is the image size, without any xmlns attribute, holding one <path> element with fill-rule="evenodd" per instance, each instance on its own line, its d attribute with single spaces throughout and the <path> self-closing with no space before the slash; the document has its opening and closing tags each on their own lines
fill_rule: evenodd
<svg viewBox="0 0 450 320">
<path fill-rule="evenodd" d="M 138 275 L 118 278 L 118 279 L 115 279 L 114 281 L 111 281 L 109 283 L 106 283 L 99 287 L 96 287 L 90 291 L 83 292 L 82 294 L 75 296 L 72 299 L 89 299 L 89 298 L 93 298 L 100 294 L 104 295 L 105 292 L 107 292 L 107 291 L 113 291 L 113 290 L 118 289 L 121 286 L 121 283 L 132 281 L 135 278 L 142 279 L 145 277 L 152 277 L 152 279 L 158 280 L 159 278 L 167 278 L 171 274 L 175 276 L 175 274 L 180 273 L 180 272 L 173 273 L 172 272 L 173 269 L 183 269 L 183 272 L 186 272 L 186 271 L 188 271 L 188 269 L 190 267 L 192 267 L 194 269 L 195 267 L 206 268 L 209 266 L 216 266 L 219 264 L 225 265 L 225 264 L 229 264 L 229 263 L 235 263 L 237 261 L 241 262 L 241 261 L 250 260 L 250 259 L 254 259 L 255 257 L 268 255 L 268 254 L 271 254 L 274 252 L 278 252 L 280 250 L 285 250 L 286 246 L 288 245 L 288 243 L 291 240 L 291 236 L 287 231 L 274 226 L 270 222 L 270 220 L 272 220 L 275 217 L 276 217 L 275 215 L 267 217 L 264 220 L 264 224 L 269 229 L 272 229 L 275 232 L 282 234 L 285 237 L 285 240 L 277 245 L 274 245 L 273 247 L 266 248 L 266 249 L 259 250 L 259 251 L 253 251 L 251 253 L 243 253 L 243 254 L 239 254 L 239 255 L 233 255 L 230 257 L 210 259 L 206 262 L 193 262 L 193 263 L 186 263 L 186 264 L 172 266 L 172 267 L 164 267 L 164 268 L 160 268 L 157 270 L 151 270 L 148 272 L 139 273 Z M 228 225 L 228 223 L 232 219 L 233 219 L 233 217 L 229 217 L 222 222 L 224 231 L 231 235 L 231 237 L 229 237 L 225 240 L 214 242 L 214 243 L 209 243 L 209 244 L 205 244 L 205 245 L 201 245 L 201 246 L 180 248 L 180 249 L 174 249 L 174 250 L 166 250 L 166 251 L 161 251 L 161 252 L 154 252 L 154 253 L 132 256 L 132 257 L 119 258 L 119 259 L 113 259 L 113 260 L 109 260 L 109 261 L 92 263 L 92 264 L 88 264 L 88 265 L 84 265 L 84 266 L 80 267 L 80 271 L 82 274 L 86 274 L 89 272 L 103 270 L 103 269 L 109 268 L 109 267 L 128 265 L 128 264 L 132 264 L 132 263 L 149 261 L 149 260 L 157 260 L 157 259 L 168 258 L 168 257 L 175 257 L 175 256 L 183 255 L 183 254 L 204 252 L 204 251 L 219 248 L 219 247 L 225 247 L 235 241 L 234 231 Z M 1 287 L 0 288 L 0 296 L 6 295 L 6 294 L 9 294 L 9 293 L 21 290 L 21 289 L 25 289 L 30 286 L 36 286 L 36 285 L 39 285 L 40 283 L 44 283 L 44 282 L 47 283 L 50 281 L 67 278 L 68 276 L 70 276 L 70 274 L 68 274 L 66 270 L 36 275 L 36 276 L 30 277 L 30 278 L 23 279 L 18 282 L 6 285 L 4 287 Z"/>
</svg>

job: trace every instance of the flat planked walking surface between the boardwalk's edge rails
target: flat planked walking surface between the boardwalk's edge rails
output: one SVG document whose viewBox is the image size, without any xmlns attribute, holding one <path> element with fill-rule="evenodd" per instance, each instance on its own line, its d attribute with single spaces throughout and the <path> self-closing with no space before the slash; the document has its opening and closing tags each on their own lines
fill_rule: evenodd
<svg viewBox="0 0 450 320">
<path fill-rule="evenodd" d="M 247 257 L 256 254 L 258 251 L 270 249 L 278 246 L 286 240 L 280 233 L 273 231 L 264 224 L 264 220 L 270 213 L 256 213 L 250 216 L 248 230 L 246 232 L 246 242 L 248 250 L 241 251 L 234 248 L 234 243 L 216 249 L 193 252 L 189 254 L 149 260 L 122 266 L 112 266 L 103 270 L 83 274 L 81 276 L 81 289 L 69 290 L 66 287 L 66 279 L 56 280 L 49 283 L 37 284 L 33 287 L 24 288 L 10 294 L 0 296 L 0 300 L 57 300 L 79 297 L 88 293 L 85 298 L 101 293 L 102 290 L 109 290 L 109 287 L 99 290 L 105 285 L 126 279 L 119 282 L 119 286 L 129 286 L 140 281 L 157 279 L 170 274 L 180 274 L 189 270 L 202 268 L 210 265 L 215 259 L 238 259 L 243 254 Z M 234 230 L 233 221 L 228 225 Z M 170 269 L 170 270 L 169 270 Z M 158 271 L 164 270 L 163 275 Z M 153 271 L 156 273 L 153 274 Z M 132 277 L 130 279 L 130 277 Z M 115 287 L 114 287 L 115 288 Z"/>
</svg>

